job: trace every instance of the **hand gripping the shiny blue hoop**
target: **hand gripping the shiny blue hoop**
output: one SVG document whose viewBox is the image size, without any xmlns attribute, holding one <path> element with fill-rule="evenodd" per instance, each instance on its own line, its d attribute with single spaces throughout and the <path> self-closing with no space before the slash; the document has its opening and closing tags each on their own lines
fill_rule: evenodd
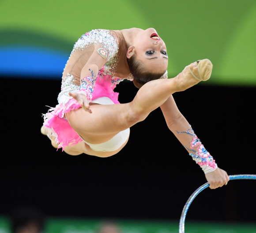
<svg viewBox="0 0 256 233">
<path fill-rule="evenodd" d="M 223 185 L 227 185 L 230 178 L 226 171 L 217 167 L 215 171 L 211 171 L 205 174 L 207 181 L 209 182 L 210 189 L 217 189 L 218 187 L 222 187 Z"/>
</svg>

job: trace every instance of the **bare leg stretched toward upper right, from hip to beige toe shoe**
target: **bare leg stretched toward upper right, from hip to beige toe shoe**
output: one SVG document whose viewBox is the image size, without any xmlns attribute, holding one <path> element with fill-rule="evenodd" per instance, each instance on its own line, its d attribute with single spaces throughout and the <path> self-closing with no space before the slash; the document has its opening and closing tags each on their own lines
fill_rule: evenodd
<svg viewBox="0 0 256 233">
<path fill-rule="evenodd" d="M 194 63 L 190 65 L 197 72 Z M 161 106 L 177 91 L 184 91 L 197 84 L 186 67 L 173 79 L 154 80 L 141 87 L 134 100 L 127 104 L 93 105 L 92 113 L 84 109 L 72 110 L 66 114 L 71 127 L 87 142 L 99 144 L 113 138 L 118 132 L 144 120 L 151 111 Z"/>
</svg>

